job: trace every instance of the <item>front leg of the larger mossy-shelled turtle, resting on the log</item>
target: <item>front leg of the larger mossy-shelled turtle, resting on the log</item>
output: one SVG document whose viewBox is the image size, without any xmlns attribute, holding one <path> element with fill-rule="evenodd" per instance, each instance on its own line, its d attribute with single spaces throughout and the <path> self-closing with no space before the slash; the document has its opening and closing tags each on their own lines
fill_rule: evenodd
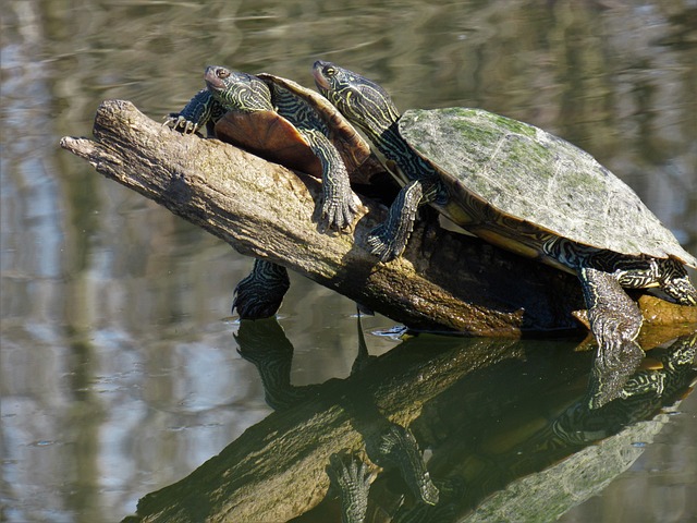
<svg viewBox="0 0 697 523">
<path fill-rule="evenodd" d="M 414 230 L 416 212 L 424 200 L 421 180 L 414 180 L 402 187 L 390 206 L 388 219 L 368 235 L 367 244 L 370 254 L 383 263 L 400 256 L 406 248 L 406 243 Z"/>
</svg>

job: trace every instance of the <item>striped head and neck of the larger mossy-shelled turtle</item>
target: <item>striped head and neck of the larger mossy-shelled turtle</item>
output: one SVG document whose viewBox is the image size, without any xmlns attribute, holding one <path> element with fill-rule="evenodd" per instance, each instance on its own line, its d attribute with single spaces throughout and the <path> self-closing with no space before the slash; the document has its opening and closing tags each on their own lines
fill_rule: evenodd
<svg viewBox="0 0 697 523">
<path fill-rule="evenodd" d="M 313 74 L 319 92 L 366 133 L 379 136 L 399 120 L 390 95 L 375 82 L 322 60 L 315 62 Z"/>
</svg>

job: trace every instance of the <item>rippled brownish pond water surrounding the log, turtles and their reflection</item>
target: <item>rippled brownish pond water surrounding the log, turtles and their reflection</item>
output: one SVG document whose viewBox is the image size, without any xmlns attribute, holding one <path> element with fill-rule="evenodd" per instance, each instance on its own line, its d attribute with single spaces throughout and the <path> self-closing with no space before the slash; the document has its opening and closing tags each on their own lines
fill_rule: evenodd
<svg viewBox="0 0 697 523">
<path fill-rule="evenodd" d="M 313 61 L 335 61 L 403 109 L 481 107 L 570 139 L 697 252 L 690 0 L 4 0 L 0 38 L 7 521 L 120 520 L 270 412 L 227 318 L 250 260 L 59 149 L 102 99 L 160 119 L 209 63 L 311 85 Z M 295 385 L 348 374 L 352 302 L 293 278 L 281 313 Z M 680 412 L 563 521 L 694 521 L 697 397 Z"/>
</svg>

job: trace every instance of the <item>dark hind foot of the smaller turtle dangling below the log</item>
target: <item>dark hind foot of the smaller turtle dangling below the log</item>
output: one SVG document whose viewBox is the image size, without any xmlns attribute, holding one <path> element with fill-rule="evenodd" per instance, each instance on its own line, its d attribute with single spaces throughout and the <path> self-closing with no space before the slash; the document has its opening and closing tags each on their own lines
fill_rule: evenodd
<svg viewBox="0 0 697 523">
<path fill-rule="evenodd" d="M 269 318 L 281 307 L 290 287 L 285 267 L 255 259 L 249 276 L 235 287 L 232 311 L 236 308 L 242 319 Z"/>
</svg>

